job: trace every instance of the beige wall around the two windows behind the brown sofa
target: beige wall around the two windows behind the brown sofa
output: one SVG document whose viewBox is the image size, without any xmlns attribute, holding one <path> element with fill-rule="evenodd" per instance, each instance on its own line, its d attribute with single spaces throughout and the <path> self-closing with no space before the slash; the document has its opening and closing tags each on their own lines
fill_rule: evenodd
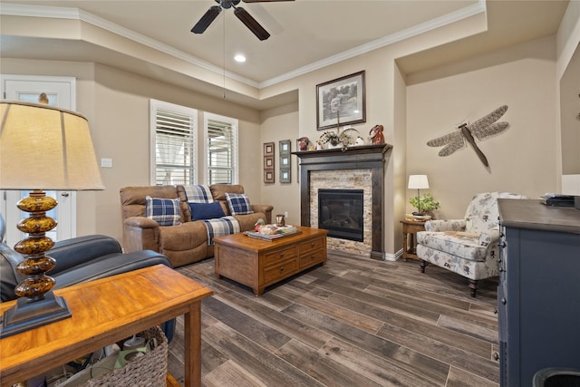
<svg viewBox="0 0 580 387">
<path fill-rule="evenodd" d="M 112 159 L 113 165 L 101 169 L 105 190 L 77 194 L 77 235 L 122 240 L 119 189 L 150 185 L 150 98 L 198 109 L 200 127 L 203 111 L 237 118 L 239 181 L 251 200 L 261 203 L 258 111 L 100 64 L 2 58 L 2 73 L 77 77 L 77 111 L 89 119 L 97 160 Z"/>
</svg>

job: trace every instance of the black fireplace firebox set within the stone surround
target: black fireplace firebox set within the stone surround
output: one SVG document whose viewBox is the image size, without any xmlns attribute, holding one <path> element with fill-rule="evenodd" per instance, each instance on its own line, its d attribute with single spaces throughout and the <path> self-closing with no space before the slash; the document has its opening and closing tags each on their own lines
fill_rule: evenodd
<svg viewBox="0 0 580 387">
<path fill-rule="evenodd" d="M 318 228 L 328 237 L 363 240 L 362 189 L 318 189 Z"/>
</svg>

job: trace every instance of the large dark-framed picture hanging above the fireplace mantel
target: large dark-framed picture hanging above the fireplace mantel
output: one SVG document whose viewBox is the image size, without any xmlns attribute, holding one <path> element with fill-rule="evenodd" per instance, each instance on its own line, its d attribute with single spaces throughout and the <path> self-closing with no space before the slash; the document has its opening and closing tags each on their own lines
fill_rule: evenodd
<svg viewBox="0 0 580 387">
<path fill-rule="evenodd" d="M 366 122 L 365 71 L 316 85 L 316 128 Z"/>
</svg>

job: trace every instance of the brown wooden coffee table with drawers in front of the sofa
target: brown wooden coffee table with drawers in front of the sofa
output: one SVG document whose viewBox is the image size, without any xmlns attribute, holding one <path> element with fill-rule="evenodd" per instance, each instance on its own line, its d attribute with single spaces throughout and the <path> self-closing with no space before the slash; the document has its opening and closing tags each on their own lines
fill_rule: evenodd
<svg viewBox="0 0 580 387">
<path fill-rule="evenodd" d="M 216 276 L 251 287 L 262 295 L 268 285 L 326 263 L 325 229 L 297 227 L 300 233 L 273 241 L 237 233 L 216 237 Z"/>
</svg>

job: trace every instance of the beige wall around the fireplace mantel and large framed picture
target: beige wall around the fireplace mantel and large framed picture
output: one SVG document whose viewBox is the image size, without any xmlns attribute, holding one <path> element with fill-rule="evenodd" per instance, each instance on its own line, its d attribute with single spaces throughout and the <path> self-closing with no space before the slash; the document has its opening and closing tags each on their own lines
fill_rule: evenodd
<svg viewBox="0 0 580 387">
<path fill-rule="evenodd" d="M 411 53 L 449 43 L 459 37 L 478 34 L 485 29 L 485 15 L 473 15 L 455 24 L 448 24 L 428 34 L 391 44 L 370 53 L 364 53 L 323 69 L 306 73 L 287 82 L 280 82 L 260 91 L 263 98 L 283 92 L 298 90 L 298 133 L 296 138 L 306 136 L 317 140 L 322 131 L 316 130 L 316 85 L 333 79 L 365 71 L 366 122 L 353 125 L 362 138 L 367 139 L 375 124 L 384 127 L 385 141 L 393 145 L 388 154 L 385 169 L 385 222 L 383 241 L 386 258 L 394 257 L 401 249 L 401 224 L 407 195 L 406 176 L 408 154 L 406 133 L 406 80 L 395 65 L 395 60 Z M 262 140 L 266 138 L 263 133 Z M 293 177 L 294 180 L 294 177 Z M 285 188 L 269 188 L 269 194 L 284 197 Z M 291 217 L 292 218 L 292 217 Z"/>
</svg>

